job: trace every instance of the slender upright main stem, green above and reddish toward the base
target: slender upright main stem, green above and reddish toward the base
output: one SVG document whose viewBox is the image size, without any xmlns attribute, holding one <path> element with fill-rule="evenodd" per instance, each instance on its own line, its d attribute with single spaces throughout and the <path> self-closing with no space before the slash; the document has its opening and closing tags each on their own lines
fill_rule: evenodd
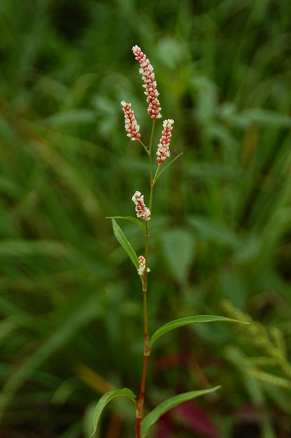
<svg viewBox="0 0 291 438">
<path fill-rule="evenodd" d="M 153 120 L 153 125 L 151 128 L 151 140 L 149 143 L 149 149 L 145 148 L 149 151 L 149 178 L 150 178 L 150 195 L 149 195 L 149 209 L 151 210 L 151 206 L 153 203 L 153 185 L 155 183 L 153 179 L 153 164 L 151 161 L 151 149 L 153 145 L 153 132 L 155 129 L 155 120 Z M 138 397 L 138 403 L 136 406 L 136 438 L 140 438 L 140 430 L 142 424 L 142 411 L 144 406 L 144 392 L 145 385 L 147 381 L 147 363 L 149 361 L 149 355 L 151 352 L 151 348 L 149 346 L 149 330 L 148 330 L 148 319 L 147 319 L 147 268 L 148 268 L 148 259 L 149 259 L 149 230 L 150 230 L 150 220 L 146 222 L 146 235 L 145 235 L 145 250 L 144 250 L 144 258 L 145 258 L 145 267 L 144 274 L 142 276 L 142 309 L 143 309 L 143 326 L 144 326 L 144 361 L 142 365 L 142 378 L 140 381 L 140 395 Z"/>
</svg>

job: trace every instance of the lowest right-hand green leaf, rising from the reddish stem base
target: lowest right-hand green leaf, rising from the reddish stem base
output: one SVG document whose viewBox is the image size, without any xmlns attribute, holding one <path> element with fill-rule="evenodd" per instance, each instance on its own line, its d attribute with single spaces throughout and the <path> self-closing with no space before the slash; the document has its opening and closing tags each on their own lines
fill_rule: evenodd
<svg viewBox="0 0 291 438">
<path fill-rule="evenodd" d="M 219 389 L 220 386 L 215 386 L 213 388 L 209 389 L 201 389 L 200 391 L 189 391 L 184 392 L 183 394 L 178 394 L 177 396 L 173 396 L 171 398 L 168 398 L 168 400 L 160 403 L 153 411 L 151 411 L 146 417 L 144 417 L 144 420 L 142 420 L 142 426 L 141 426 L 141 436 L 144 438 L 151 426 L 159 420 L 164 413 L 167 411 L 170 411 L 170 409 L 173 409 L 178 404 L 187 402 L 188 400 L 192 400 L 192 398 L 196 398 L 199 396 L 203 396 L 205 394 L 209 394 L 210 392 L 216 391 Z"/>
</svg>

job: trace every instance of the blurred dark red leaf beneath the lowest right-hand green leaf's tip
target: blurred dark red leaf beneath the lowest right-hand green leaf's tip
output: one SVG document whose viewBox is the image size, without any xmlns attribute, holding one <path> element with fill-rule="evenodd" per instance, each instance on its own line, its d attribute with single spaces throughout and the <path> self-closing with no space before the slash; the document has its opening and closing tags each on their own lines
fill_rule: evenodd
<svg viewBox="0 0 291 438">
<path fill-rule="evenodd" d="M 219 432 L 204 411 L 192 401 L 184 402 L 173 409 L 175 417 L 179 418 L 190 430 L 199 432 L 205 437 L 218 438 Z"/>
</svg>

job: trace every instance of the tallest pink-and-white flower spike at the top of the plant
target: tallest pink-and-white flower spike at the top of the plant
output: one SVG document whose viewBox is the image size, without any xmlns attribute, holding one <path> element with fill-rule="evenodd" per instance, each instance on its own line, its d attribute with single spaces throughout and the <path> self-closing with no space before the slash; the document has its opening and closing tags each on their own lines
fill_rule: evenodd
<svg viewBox="0 0 291 438">
<path fill-rule="evenodd" d="M 162 117 L 160 113 L 160 101 L 157 99 L 159 92 L 157 92 L 157 82 L 155 81 L 155 73 L 153 73 L 153 66 L 151 66 L 147 55 L 142 53 L 140 47 L 134 46 L 132 48 L 136 60 L 140 63 L 140 74 L 142 75 L 142 80 L 144 81 L 143 87 L 145 88 L 144 94 L 147 96 L 147 103 L 149 107 L 147 112 L 149 116 L 156 120 Z"/>
</svg>

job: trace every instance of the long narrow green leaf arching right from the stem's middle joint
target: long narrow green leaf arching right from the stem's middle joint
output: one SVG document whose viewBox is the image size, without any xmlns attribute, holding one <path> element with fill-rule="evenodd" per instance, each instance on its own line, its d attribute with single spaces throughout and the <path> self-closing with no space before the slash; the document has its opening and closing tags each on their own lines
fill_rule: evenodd
<svg viewBox="0 0 291 438">
<path fill-rule="evenodd" d="M 225 318 L 225 316 L 216 316 L 216 315 L 197 315 L 197 316 L 188 316 L 187 318 L 180 318 L 179 320 L 174 320 L 167 322 L 160 329 L 157 329 L 155 333 L 153 333 L 151 337 L 151 346 L 153 343 L 164 333 L 167 333 L 170 330 L 177 329 L 181 326 L 186 326 L 187 324 L 193 324 L 194 322 L 242 322 L 243 324 L 247 324 L 247 322 L 232 320 L 231 318 Z"/>
</svg>

